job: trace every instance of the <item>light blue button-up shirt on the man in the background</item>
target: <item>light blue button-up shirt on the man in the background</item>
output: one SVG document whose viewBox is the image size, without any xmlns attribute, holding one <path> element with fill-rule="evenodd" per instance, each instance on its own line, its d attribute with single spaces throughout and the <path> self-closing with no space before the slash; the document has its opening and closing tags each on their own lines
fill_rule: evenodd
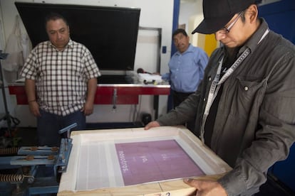
<svg viewBox="0 0 295 196">
<path fill-rule="evenodd" d="M 169 62 L 170 72 L 162 75 L 177 92 L 195 92 L 204 77 L 208 55 L 201 48 L 189 45 L 184 53 L 177 51 Z"/>
</svg>

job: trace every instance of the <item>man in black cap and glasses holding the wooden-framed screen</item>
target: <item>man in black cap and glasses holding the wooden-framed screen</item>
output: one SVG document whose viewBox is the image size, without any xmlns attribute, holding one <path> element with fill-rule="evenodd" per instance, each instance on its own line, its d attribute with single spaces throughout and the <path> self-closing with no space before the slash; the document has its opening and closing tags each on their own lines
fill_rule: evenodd
<svg viewBox="0 0 295 196">
<path fill-rule="evenodd" d="M 192 33 L 215 34 L 197 92 L 145 126 L 195 118 L 195 135 L 232 170 L 215 181 L 185 179 L 197 195 L 254 195 L 267 170 L 295 141 L 295 46 L 269 30 L 255 0 L 203 0 L 204 20 Z"/>
</svg>

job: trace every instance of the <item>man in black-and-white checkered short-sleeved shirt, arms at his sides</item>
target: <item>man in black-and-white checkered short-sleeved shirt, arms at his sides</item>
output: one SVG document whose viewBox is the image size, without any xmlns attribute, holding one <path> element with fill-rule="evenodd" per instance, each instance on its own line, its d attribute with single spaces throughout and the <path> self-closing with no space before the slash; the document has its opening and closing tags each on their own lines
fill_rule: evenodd
<svg viewBox="0 0 295 196">
<path fill-rule="evenodd" d="M 21 76 L 29 109 L 37 117 L 38 144 L 60 146 L 58 130 L 73 123 L 76 130 L 86 129 L 100 72 L 86 46 L 71 40 L 66 18 L 48 14 L 46 33 L 49 40 L 33 48 Z"/>
</svg>

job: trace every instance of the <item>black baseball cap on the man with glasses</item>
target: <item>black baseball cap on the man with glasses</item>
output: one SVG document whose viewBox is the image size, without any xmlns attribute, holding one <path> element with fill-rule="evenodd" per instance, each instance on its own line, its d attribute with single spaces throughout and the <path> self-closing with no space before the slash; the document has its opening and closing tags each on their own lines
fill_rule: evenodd
<svg viewBox="0 0 295 196">
<path fill-rule="evenodd" d="M 192 31 L 194 33 L 212 34 L 224 27 L 234 14 L 256 4 L 257 0 L 203 0 L 203 21 Z"/>
</svg>

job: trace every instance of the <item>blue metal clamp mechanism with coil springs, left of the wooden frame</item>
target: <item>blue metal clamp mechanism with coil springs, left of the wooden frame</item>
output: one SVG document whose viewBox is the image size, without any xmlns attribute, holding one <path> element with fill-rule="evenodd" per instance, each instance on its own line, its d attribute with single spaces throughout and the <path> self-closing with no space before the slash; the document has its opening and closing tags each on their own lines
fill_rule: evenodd
<svg viewBox="0 0 295 196">
<path fill-rule="evenodd" d="M 0 195 L 39 195 L 58 192 L 61 173 L 66 172 L 72 149 L 70 131 L 59 130 L 60 146 L 0 148 Z M 2 138 L 4 140 L 4 138 Z"/>
</svg>

